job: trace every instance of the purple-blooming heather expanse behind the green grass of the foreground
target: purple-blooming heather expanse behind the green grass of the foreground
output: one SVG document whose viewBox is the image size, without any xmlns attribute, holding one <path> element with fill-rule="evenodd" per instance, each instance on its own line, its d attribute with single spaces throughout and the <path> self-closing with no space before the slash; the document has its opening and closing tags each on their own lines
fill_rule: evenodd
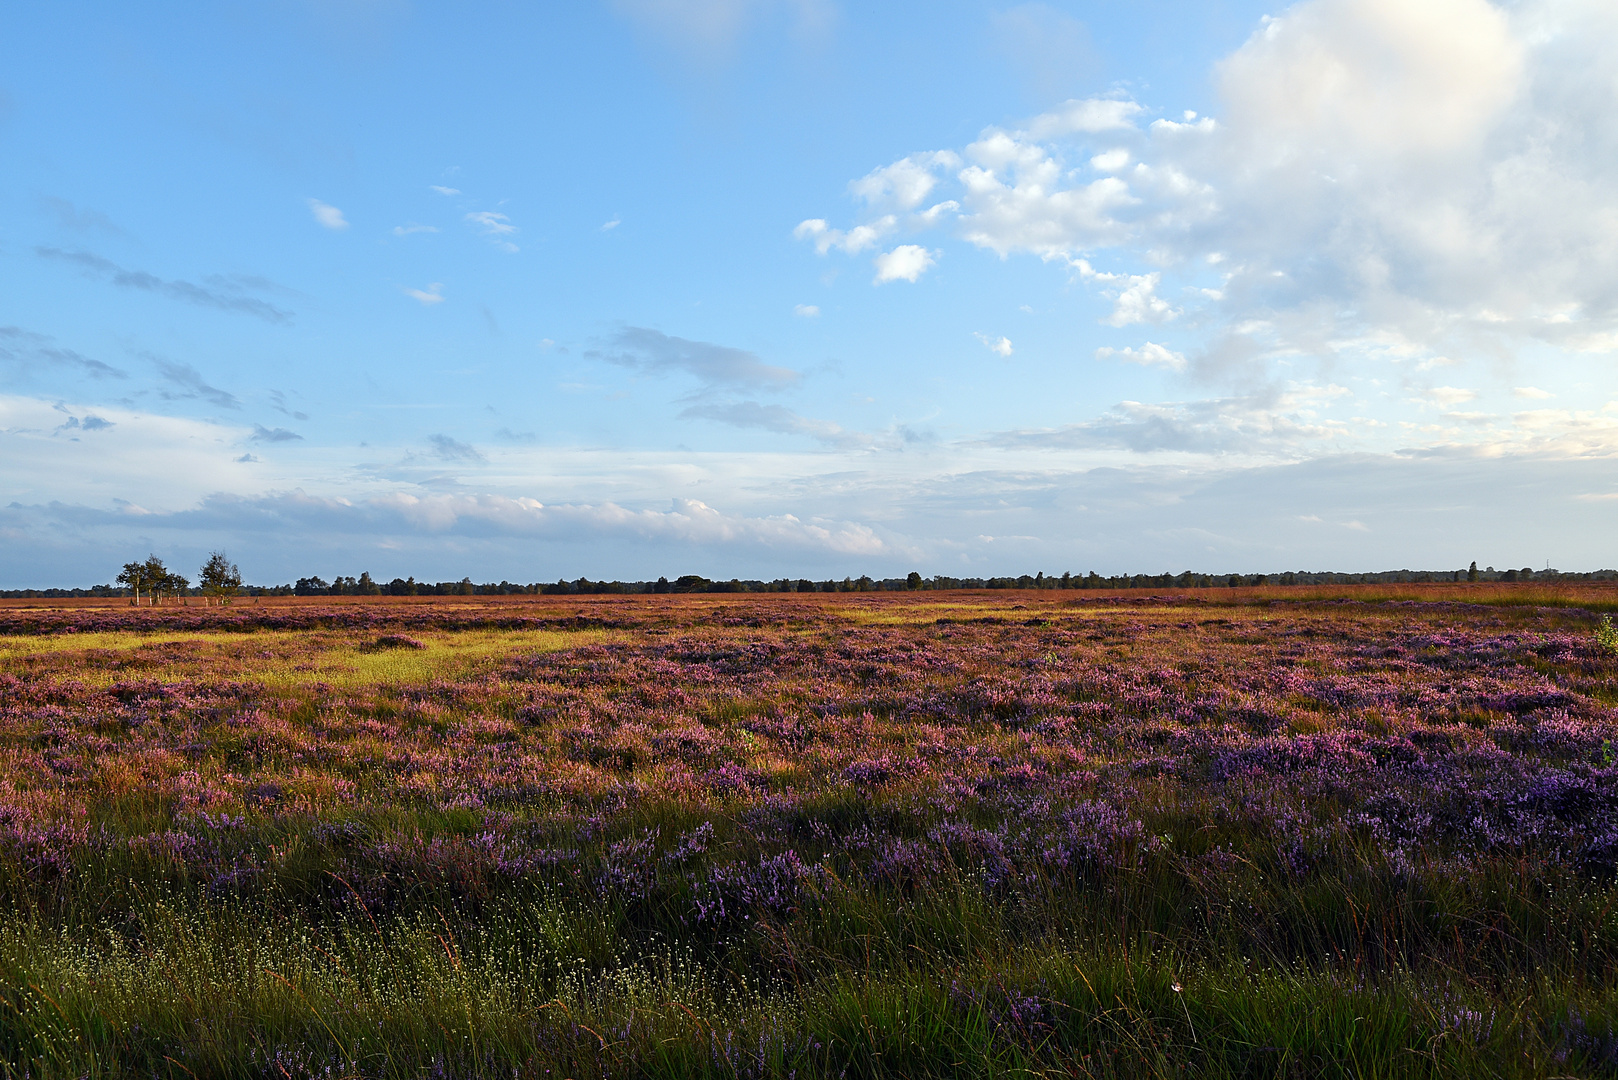
<svg viewBox="0 0 1618 1080">
<path fill-rule="evenodd" d="M 13 612 L 0 895 L 63 925 L 154 895 L 377 934 L 435 912 L 450 959 L 549 897 L 605 913 L 620 959 L 684 942 L 793 986 L 845 972 L 859 920 L 943 897 L 935 926 L 997 928 L 972 949 L 1134 920 L 1197 963 L 1358 986 L 1424 957 L 1532 980 L 1550 946 L 1511 942 L 1540 920 L 1612 986 L 1613 929 L 1547 915 L 1618 874 L 1618 656 L 1592 630 L 1071 594 Z M 900 959 L 934 949 L 895 926 L 922 934 Z M 938 984 L 1005 1052 L 1071 1020 L 1048 988 Z M 1189 1030 L 1191 1001 L 1176 981 L 1165 1015 Z M 1495 1006 L 1446 1009 L 1421 1038 L 1506 1038 Z M 1535 1046 L 1605 1052 L 1576 1015 Z"/>
</svg>

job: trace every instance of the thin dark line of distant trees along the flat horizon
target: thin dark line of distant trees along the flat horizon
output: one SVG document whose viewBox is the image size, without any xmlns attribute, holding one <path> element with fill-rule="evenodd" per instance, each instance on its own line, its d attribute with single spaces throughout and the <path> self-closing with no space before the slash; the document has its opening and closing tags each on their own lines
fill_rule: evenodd
<svg viewBox="0 0 1618 1080">
<path fill-rule="evenodd" d="M 1479 568 L 1472 563 L 1466 570 L 1380 570 L 1375 573 L 1335 573 L 1324 570 L 1286 570 L 1283 573 L 1197 573 L 1184 570 L 1181 573 L 1126 573 L 1105 576 L 1091 570 L 1089 573 L 1024 573 L 1021 576 L 1003 578 L 950 578 L 935 575 L 924 578 L 913 572 L 904 578 L 843 578 L 812 581 L 809 578 L 777 578 L 773 581 L 731 578 L 709 580 L 694 573 L 675 578 L 657 578 L 655 581 L 591 581 L 578 578 L 568 581 L 536 581 L 529 585 L 513 581 L 474 583 L 471 578 L 460 581 L 417 581 L 414 576 L 393 578 L 392 581 L 374 581 L 371 573 L 358 578 L 337 576 L 330 581 L 320 576 L 298 578 L 291 585 L 241 585 L 236 596 L 600 596 L 600 594 L 636 594 L 636 593 L 888 593 L 917 589 L 1209 589 L 1209 588 L 1241 588 L 1259 585 L 1403 585 L 1419 581 L 1613 581 L 1618 570 L 1592 570 L 1589 573 L 1563 573 L 1561 570 L 1495 570 Z M 184 578 L 176 578 L 184 581 Z M 95 585 L 83 589 L 0 589 L 5 599 L 70 599 L 86 596 L 133 596 L 134 593 L 118 585 Z M 168 596 L 199 596 L 202 589 L 180 586 L 168 591 Z"/>
</svg>

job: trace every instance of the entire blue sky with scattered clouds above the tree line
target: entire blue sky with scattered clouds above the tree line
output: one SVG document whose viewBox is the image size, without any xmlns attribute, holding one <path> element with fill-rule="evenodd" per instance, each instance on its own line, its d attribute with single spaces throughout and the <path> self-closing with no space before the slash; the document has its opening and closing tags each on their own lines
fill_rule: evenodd
<svg viewBox="0 0 1618 1080">
<path fill-rule="evenodd" d="M 0 6 L 0 588 L 1618 565 L 1615 40 Z"/>
</svg>

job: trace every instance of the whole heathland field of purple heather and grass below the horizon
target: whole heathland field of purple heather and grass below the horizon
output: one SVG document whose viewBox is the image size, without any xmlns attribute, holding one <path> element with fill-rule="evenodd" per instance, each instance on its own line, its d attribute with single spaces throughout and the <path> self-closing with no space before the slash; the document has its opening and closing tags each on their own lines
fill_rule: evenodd
<svg viewBox="0 0 1618 1080">
<path fill-rule="evenodd" d="M 1618 1075 L 1618 593 L 0 606 L 0 1075 Z"/>
</svg>

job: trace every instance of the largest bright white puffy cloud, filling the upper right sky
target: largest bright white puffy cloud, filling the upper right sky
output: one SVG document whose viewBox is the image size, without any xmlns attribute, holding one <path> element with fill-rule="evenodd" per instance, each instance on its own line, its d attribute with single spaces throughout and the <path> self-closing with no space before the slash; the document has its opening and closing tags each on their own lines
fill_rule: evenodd
<svg viewBox="0 0 1618 1080">
<path fill-rule="evenodd" d="M 872 170 L 851 185 L 872 219 L 807 232 L 830 251 L 898 215 L 883 238 L 1076 267 L 1112 325 L 1194 313 L 1251 342 L 1197 353 L 1209 376 L 1390 343 L 1618 351 L 1615 39 L 1605 3 L 1304 0 L 1217 66 L 1218 117 L 1071 100 Z M 935 199 L 956 210 L 904 210 Z"/>
</svg>

